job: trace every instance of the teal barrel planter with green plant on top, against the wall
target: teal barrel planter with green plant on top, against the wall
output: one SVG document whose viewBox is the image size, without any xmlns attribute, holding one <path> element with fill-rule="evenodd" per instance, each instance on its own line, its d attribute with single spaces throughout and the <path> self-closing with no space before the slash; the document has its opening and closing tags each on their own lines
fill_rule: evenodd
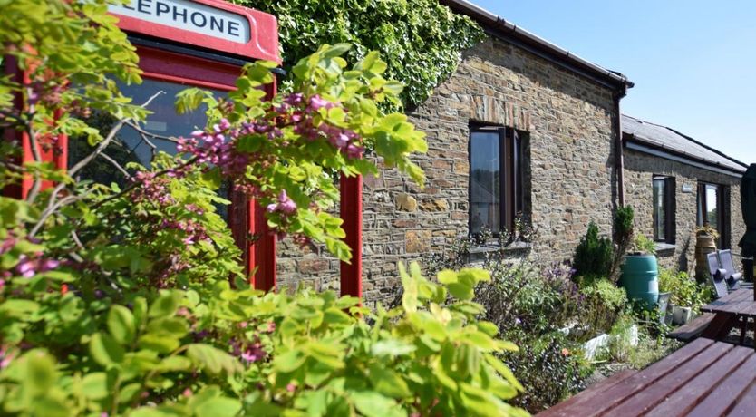
<svg viewBox="0 0 756 417">
<path fill-rule="evenodd" d="M 659 301 L 659 267 L 656 262 L 656 244 L 650 238 L 638 235 L 622 265 L 622 286 L 627 296 L 640 300 L 651 309 Z"/>
</svg>

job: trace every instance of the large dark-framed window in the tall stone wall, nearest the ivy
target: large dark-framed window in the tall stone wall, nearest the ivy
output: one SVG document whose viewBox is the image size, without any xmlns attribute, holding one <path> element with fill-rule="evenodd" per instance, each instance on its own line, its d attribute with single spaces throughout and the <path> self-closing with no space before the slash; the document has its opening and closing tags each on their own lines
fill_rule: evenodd
<svg viewBox="0 0 756 417">
<path fill-rule="evenodd" d="M 470 233 L 512 231 L 524 209 L 522 140 L 501 126 L 470 126 Z"/>
</svg>

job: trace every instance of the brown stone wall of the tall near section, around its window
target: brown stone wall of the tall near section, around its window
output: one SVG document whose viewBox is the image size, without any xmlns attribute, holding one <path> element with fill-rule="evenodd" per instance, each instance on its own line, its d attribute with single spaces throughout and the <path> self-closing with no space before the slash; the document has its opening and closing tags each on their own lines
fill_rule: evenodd
<svg viewBox="0 0 756 417">
<path fill-rule="evenodd" d="M 425 131 L 424 189 L 383 169 L 364 179 L 363 293 L 393 297 L 396 263 L 427 257 L 468 233 L 470 121 L 527 132 L 526 207 L 538 228 L 531 256 L 571 257 L 590 220 L 611 231 L 615 199 L 612 91 L 499 39 L 463 54 L 451 78 L 410 113 Z M 338 263 L 322 249 L 279 251 L 279 276 L 338 287 Z"/>
</svg>

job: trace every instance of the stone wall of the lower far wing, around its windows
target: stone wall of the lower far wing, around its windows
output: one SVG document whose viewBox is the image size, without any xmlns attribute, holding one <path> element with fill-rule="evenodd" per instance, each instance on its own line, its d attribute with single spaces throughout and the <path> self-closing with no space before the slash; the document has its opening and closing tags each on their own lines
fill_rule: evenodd
<svg viewBox="0 0 756 417">
<path fill-rule="evenodd" d="M 635 208 L 635 233 L 654 236 L 653 189 L 655 175 L 674 177 L 675 240 L 674 249 L 657 254 L 662 267 L 675 268 L 693 274 L 695 268 L 695 233 L 697 185 L 699 181 L 725 186 L 725 201 L 730 209 L 730 248 L 740 253 L 738 242 L 745 233 L 741 212 L 740 179 L 711 170 L 692 167 L 674 160 L 666 160 L 636 150 L 625 149 L 625 203 Z M 693 192 L 683 192 L 683 185 Z M 735 259 L 739 263 L 739 259 Z M 739 267 L 736 265 L 736 267 Z"/>
</svg>

